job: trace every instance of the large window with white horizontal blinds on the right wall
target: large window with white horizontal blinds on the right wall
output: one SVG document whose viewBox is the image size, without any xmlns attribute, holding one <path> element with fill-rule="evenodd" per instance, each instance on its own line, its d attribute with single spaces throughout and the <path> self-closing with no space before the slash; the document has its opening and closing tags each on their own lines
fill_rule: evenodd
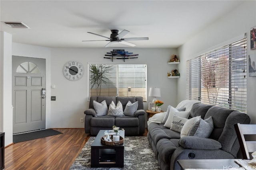
<svg viewBox="0 0 256 170">
<path fill-rule="evenodd" d="M 246 113 L 246 41 L 188 60 L 187 99 Z"/>
</svg>

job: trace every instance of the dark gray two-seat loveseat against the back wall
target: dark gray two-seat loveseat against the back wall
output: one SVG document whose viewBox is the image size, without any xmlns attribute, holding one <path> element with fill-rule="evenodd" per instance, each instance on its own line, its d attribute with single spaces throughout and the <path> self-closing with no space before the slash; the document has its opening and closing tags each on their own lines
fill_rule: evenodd
<svg viewBox="0 0 256 170">
<path fill-rule="evenodd" d="M 96 116 L 96 111 L 93 105 L 94 100 L 99 103 L 106 100 L 108 107 L 112 101 L 115 104 L 120 101 L 122 103 L 123 110 L 125 109 L 128 101 L 131 103 L 138 101 L 138 109 L 134 113 L 134 116 Z M 85 133 L 97 135 L 100 130 L 112 129 L 112 126 L 116 125 L 125 130 L 126 136 L 140 135 L 145 132 L 145 113 L 142 97 L 92 96 L 90 97 L 89 109 L 84 111 L 84 130 Z"/>
</svg>

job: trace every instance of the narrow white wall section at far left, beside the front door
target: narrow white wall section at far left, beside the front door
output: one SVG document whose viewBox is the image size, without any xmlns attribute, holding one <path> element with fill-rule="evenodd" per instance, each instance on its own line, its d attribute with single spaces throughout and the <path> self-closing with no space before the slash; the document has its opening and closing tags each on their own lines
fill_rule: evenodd
<svg viewBox="0 0 256 170">
<path fill-rule="evenodd" d="M 12 143 L 12 35 L 0 32 L 0 131 L 5 132 L 5 146 Z"/>
</svg>

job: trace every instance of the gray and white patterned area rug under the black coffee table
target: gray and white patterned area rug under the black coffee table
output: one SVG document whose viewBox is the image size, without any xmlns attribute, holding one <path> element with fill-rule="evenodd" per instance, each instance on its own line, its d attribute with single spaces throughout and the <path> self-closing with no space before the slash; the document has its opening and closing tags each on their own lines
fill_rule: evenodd
<svg viewBox="0 0 256 170">
<path fill-rule="evenodd" d="M 160 170 L 147 137 L 141 136 L 124 138 L 123 168 L 91 168 L 91 144 L 94 139 L 90 137 L 69 170 Z"/>
</svg>

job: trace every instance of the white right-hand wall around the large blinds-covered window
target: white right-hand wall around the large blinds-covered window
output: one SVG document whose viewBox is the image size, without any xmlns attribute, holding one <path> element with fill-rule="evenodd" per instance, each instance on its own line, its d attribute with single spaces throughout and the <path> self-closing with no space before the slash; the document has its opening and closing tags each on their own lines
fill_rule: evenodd
<svg viewBox="0 0 256 170">
<path fill-rule="evenodd" d="M 186 60 L 202 53 L 226 45 L 242 38 L 247 33 L 247 55 L 256 60 L 256 50 L 250 50 L 250 30 L 256 26 L 256 1 L 244 1 L 238 8 L 229 12 L 212 25 L 209 25 L 184 45 L 178 48 L 180 60 L 180 74 L 186 74 Z M 248 74 L 247 74 L 248 75 Z M 256 123 L 256 77 L 247 76 L 247 113 L 251 123 Z M 186 99 L 186 77 L 178 80 L 178 101 Z"/>
</svg>

